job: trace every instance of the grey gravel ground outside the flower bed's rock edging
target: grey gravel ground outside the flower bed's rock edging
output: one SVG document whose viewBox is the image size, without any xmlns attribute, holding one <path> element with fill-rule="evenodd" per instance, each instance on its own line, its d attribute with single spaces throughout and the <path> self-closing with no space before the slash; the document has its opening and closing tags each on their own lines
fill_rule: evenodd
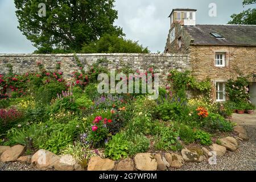
<svg viewBox="0 0 256 182">
<path fill-rule="evenodd" d="M 240 142 L 235 152 L 227 151 L 225 156 L 217 156 L 217 165 L 210 165 L 208 160 L 201 163 L 185 163 L 180 169 L 170 171 L 256 171 L 256 126 L 246 126 L 250 140 Z M 30 165 L 0 162 L 0 171 L 38 171 Z"/>
</svg>

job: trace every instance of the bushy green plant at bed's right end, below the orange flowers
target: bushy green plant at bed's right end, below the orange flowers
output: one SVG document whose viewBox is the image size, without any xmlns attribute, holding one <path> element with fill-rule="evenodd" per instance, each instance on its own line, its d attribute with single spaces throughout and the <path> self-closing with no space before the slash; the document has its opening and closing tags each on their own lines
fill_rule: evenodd
<svg viewBox="0 0 256 182">
<path fill-rule="evenodd" d="M 204 119 L 204 129 L 212 133 L 217 131 L 230 132 L 233 131 L 233 126 L 234 124 L 232 122 L 226 121 L 220 114 L 210 113 Z"/>
</svg>

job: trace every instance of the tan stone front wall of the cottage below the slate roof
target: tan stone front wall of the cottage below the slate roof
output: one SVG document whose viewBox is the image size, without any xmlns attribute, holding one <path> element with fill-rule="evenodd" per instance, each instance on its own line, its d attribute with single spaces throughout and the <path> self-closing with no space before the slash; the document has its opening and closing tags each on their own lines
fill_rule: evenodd
<svg viewBox="0 0 256 182">
<path fill-rule="evenodd" d="M 226 82 L 238 75 L 250 75 L 250 81 L 256 82 L 256 47 L 241 46 L 190 46 L 189 59 L 192 75 L 197 80 L 209 77 L 213 85 Z M 225 67 L 215 67 L 216 52 L 225 53 Z M 251 90 L 250 90 L 251 92 Z M 213 86 L 213 99 L 216 100 L 216 88 Z"/>
</svg>

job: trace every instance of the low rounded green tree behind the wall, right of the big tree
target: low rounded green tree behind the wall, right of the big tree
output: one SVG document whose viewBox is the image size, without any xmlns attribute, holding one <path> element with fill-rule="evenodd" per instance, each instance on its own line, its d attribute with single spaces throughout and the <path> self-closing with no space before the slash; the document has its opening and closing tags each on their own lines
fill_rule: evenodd
<svg viewBox="0 0 256 182">
<path fill-rule="evenodd" d="M 126 40 L 117 35 L 105 34 L 99 40 L 84 44 L 82 53 L 149 53 L 148 48 L 143 48 L 138 42 Z"/>
</svg>

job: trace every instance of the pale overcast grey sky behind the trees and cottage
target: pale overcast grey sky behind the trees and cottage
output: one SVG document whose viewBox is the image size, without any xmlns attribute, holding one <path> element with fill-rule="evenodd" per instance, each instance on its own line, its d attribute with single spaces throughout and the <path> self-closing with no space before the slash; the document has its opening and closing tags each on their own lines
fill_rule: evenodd
<svg viewBox="0 0 256 182">
<path fill-rule="evenodd" d="M 216 3 L 217 16 L 210 17 L 209 4 Z M 255 6 L 255 5 L 254 5 Z M 163 52 L 170 15 L 174 8 L 197 9 L 197 24 L 226 24 L 230 15 L 251 6 L 242 6 L 242 0 L 116 0 L 118 19 L 128 39 L 139 41 L 151 52 Z M 13 0 L 0 0 L 0 53 L 32 53 L 35 48 L 17 28 Z"/>
</svg>

